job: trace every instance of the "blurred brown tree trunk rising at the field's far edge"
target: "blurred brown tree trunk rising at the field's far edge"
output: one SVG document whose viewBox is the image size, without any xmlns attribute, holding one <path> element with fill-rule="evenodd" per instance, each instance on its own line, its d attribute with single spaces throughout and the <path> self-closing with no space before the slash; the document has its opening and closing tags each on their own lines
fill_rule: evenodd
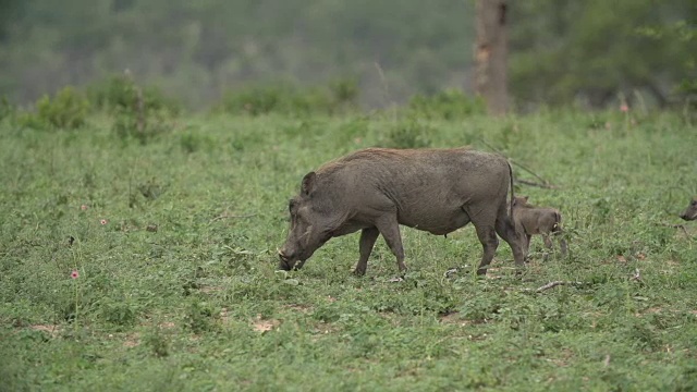
<svg viewBox="0 0 697 392">
<path fill-rule="evenodd" d="M 506 0 L 477 0 L 475 89 L 491 114 L 509 107 Z"/>
</svg>

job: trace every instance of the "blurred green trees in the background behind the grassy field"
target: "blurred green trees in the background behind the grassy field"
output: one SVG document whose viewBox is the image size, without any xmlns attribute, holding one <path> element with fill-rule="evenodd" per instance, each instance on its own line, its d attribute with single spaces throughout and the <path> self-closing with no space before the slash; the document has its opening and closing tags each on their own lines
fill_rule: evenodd
<svg viewBox="0 0 697 392">
<path fill-rule="evenodd" d="M 696 3 L 509 2 L 511 106 L 680 100 L 696 78 Z M 0 96 L 26 103 L 127 69 L 193 108 L 346 79 L 384 107 L 472 93 L 475 22 L 474 0 L 0 0 Z"/>
</svg>

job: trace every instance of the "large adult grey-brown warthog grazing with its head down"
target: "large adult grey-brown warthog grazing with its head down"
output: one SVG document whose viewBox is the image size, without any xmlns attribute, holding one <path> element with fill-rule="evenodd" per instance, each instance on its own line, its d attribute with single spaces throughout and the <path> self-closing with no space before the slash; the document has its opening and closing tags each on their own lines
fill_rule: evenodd
<svg viewBox="0 0 697 392">
<path fill-rule="evenodd" d="M 443 235 L 472 222 L 484 247 L 485 274 L 497 233 L 524 266 L 521 240 L 508 212 L 513 173 L 504 157 L 452 149 L 367 148 L 305 175 L 289 203 L 291 226 L 279 268 L 301 268 L 329 238 L 360 230 L 356 274 L 364 274 L 378 234 L 406 270 L 400 224 Z M 299 261 L 299 262 L 298 262 Z"/>
</svg>

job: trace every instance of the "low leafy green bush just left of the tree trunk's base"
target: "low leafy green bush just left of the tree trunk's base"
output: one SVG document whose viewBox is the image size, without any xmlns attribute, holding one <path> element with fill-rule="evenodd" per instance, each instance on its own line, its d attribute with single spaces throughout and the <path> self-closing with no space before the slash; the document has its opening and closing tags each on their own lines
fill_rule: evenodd
<svg viewBox="0 0 697 392">
<path fill-rule="evenodd" d="M 408 110 L 426 119 L 463 119 L 485 113 L 484 101 L 468 97 L 456 89 L 445 89 L 432 96 L 416 95 L 408 103 Z"/>
</svg>

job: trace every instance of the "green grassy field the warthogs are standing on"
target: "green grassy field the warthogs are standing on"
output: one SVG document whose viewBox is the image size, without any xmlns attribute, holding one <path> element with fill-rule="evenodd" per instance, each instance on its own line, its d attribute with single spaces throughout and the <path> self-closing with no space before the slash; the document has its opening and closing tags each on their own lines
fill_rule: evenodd
<svg viewBox="0 0 697 392">
<path fill-rule="evenodd" d="M 192 115 L 146 144 L 95 117 L 0 136 L 2 391 L 697 390 L 697 224 L 671 226 L 697 194 L 697 128 L 680 115 Z M 376 145 L 504 152 L 557 186 L 516 193 L 561 209 L 568 257 L 536 237 L 516 277 L 502 242 L 478 280 L 472 226 L 403 229 L 402 282 L 382 240 L 351 274 L 357 234 L 277 271 L 302 176 Z M 535 292 L 558 280 L 584 284 Z"/>
</svg>

